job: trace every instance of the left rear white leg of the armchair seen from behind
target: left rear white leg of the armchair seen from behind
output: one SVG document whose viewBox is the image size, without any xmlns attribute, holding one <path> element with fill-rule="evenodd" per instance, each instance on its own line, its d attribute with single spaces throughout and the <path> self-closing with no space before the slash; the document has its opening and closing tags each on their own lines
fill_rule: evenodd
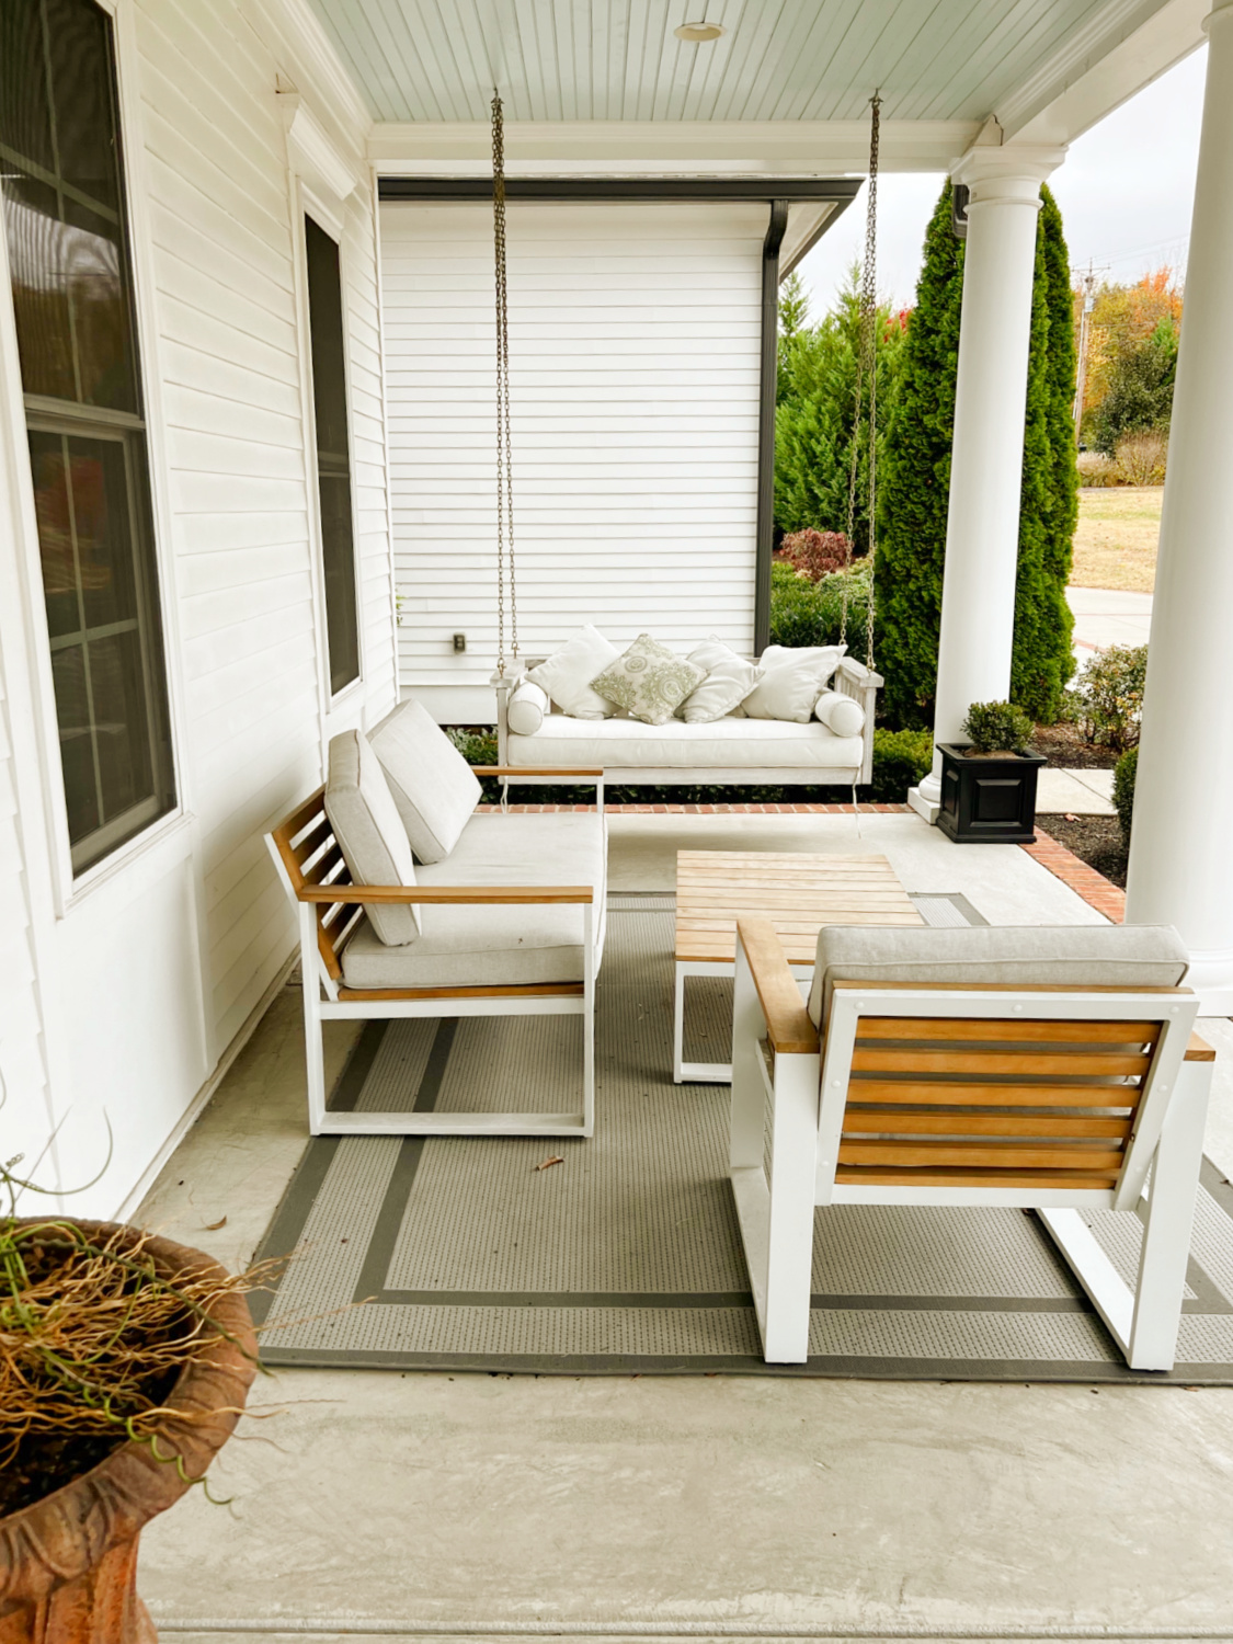
<svg viewBox="0 0 1233 1644">
<path fill-rule="evenodd" d="M 763 1356 L 768 1365 L 804 1365 L 809 1358 L 817 1080 L 817 1054 L 781 1054 L 774 1059 L 771 1207 L 763 1320 Z"/>
</svg>

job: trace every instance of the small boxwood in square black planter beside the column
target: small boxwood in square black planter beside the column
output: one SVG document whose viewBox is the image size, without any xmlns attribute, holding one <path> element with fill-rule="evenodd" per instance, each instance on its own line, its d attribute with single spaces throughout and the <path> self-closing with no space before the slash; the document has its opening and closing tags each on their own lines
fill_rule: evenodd
<svg viewBox="0 0 1233 1644">
<path fill-rule="evenodd" d="M 957 845 L 1031 845 L 1036 840 L 1036 773 L 1028 753 L 1034 725 L 1011 702 L 973 702 L 967 743 L 939 743 L 942 810 L 937 825 Z"/>
</svg>

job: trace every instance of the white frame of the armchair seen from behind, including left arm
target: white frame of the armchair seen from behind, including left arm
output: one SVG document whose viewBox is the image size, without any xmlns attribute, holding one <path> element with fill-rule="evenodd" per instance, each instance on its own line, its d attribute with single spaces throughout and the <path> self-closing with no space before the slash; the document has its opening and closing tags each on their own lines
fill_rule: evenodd
<svg viewBox="0 0 1233 1644">
<path fill-rule="evenodd" d="M 778 958 L 776 958 L 778 954 Z M 1172 1369 L 1190 1254 L 1215 1054 L 1190 1041 L 1198 1000 L 1174 990 L 963 988 L 835 983 L 819 1046 L 766 921 L 737 932 L 732 1185 L 768 1363 L 809 1356 L 815 1205 L 1001 1205 L 1036 1210 L 1133 1369 Z M 873 1185 L 835 1180 L 860 1018 L 1157 1021 L 1134 1129 L 1110 1189 L 1074 1185 Z M 763 1166 L 771 1103 L 769 1180 Z M 1151 1167 L 1151 1195 L 1143 1210 Z M 1083 1210 L 1144 1220 L 1134 1289 L 1121 1281 Z"/>
</svg>

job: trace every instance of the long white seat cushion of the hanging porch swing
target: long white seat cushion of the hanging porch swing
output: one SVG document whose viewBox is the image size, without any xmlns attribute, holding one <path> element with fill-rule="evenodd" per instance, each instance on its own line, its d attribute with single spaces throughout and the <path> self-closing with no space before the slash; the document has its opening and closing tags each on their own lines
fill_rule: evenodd
<svg viewBox="0 0 1233 1644">
<path fill-rule="evenodd" d="M 809 769 L 850 781 L 863 751 L 860 737 L 837 737 L 817 720 L 796 725 L 730 713 L 700 723 L 641 725 L 628 718 L 595 722 L 549 713 L 534 737 L 510 735 L 506 763 L 600 766 L 608 773 Z"/>
</svg>

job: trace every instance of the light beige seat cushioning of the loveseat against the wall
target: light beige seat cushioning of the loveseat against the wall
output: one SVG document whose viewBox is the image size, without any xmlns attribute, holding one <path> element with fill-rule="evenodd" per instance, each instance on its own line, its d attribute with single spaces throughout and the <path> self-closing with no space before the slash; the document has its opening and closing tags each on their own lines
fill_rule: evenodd
<svg viewBox="0 0 1233 1644">
<path fill-rule="evenodd" d="M 480 812 L 446 861 L 416 870 L 431 884 L 589 884 L 592 931 L 603 927 L 603 820 L 595 812 Z M 367 919 L 342 950 L 349 988 L 490 988 L 584 980 L 580 903 L 429 903 L 423 932 L 386 947 Z"/>
</svg>

